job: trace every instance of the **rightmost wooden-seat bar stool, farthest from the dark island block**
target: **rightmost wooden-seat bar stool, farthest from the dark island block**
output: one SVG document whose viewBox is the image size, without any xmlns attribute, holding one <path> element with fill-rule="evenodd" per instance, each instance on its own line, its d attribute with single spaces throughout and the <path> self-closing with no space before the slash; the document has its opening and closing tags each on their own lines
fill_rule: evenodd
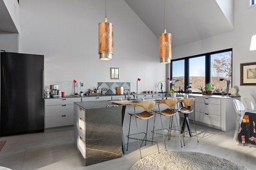
<svg viewBox="0 0 256 170">
<path fill-rule="evenodd" d="M 194 119 L 195 119 L 194 113 L 193 113 L 194 109 L 191 109 L 191 106 L 194 104 L 194 101 L 195 101 L 194 98 L 186 98 L 186 99 L 179 100 L 177 103 L 179 103 L 179 102 L 182 103 L 182 107 L 180 107 L 178 109 L 178 111 L 179 111 L 179 113 L 184 114 L 184 121 L 182 124 L 182 130 L 181 130 L 181 132 L 183 133 L 183 136 L 185 135 L 186 125 L 187 125 L 190 137 L 193 137 L 192 133 L 196 133 L 197 142 L 199 142 L 197 132 L 196 132 L 196 125 L 195 125 L 195 121 L 194 121 Z M 187 107 L 185 107 L 183 104 L 187 105 Z M 191 113 L 192 117 L 193 117 L 195 132 L 192 132 L 191 127 L 190 127 L 190 123 L 189 123 L 189 119 L 188 119 L 189 113 Z M 185 145 L 185 143 L 184 143 L 184 145 Z"/>
</svg>

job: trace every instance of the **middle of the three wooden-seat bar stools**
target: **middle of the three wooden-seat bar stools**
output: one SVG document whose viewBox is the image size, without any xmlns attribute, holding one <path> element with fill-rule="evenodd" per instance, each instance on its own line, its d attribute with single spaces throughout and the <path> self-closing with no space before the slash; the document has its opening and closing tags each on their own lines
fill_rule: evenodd
<svg viewBox="0 0 256 170">
<path fill-rule="evenodd" d="M 158 129 L 158 130 L 155 130 L 155 131 L 159 131 L 159 130 L 162 130 L 162 134 L 163 134 L 163 137 L 164 137 L 164 127 L 163 127 L 163 123 L 162 123 L 162 116 L 169 116 L 170 117 L 170 123 L 169 123 L 169 127 L 168 129 L 168 132 L 167 132 L 167 135 L 166 137 L 168 137 L 168 140 L 169 140 L 169 137 L 171 136 L 171 130 L 176 130 L 179 132 L 179 136 L 180 136 L 180 129 L 179 129 L 179 125 L 178 125 L 178 120 L 177 120 L 177 112 L 175 111 L 174 107 L 176 106 L 177 104 L 177 99 L 175 98 L 171 98 L 171 99 L 166 99 L 166 100 L 163 100 L 161 101 L 160 103 L 158 103 L 158 108 L 159 108 L 159 111 L 154 111 L 155 113 L 158 113 L 160 114 L 160 120 L 161 120 L 161 125 L 162 125 L 162 129 Z M 166 105 L 169 107 L 167 109 L 160 109 L 163 108 L 166 108 Z M 177 123 L 177 126 L 178 127 L 178 130 L 177 129 L 172 129 L 172 120 L 173 120 L 173 116 L 175 115 L 175 118 L 176 118 L 176 123 Z M 156 119 L 156 116 L 155 118 Z M 180 119 L 180 118 L 179 118 Z M 181 123 L 180 123 L 181 124 Z M 154 131 L 154 130 L 153 130 Z M 152 131 L 152 132 L 153 132 Z M 158 133 L 159 134 L 159 133 Z M 166 150 L 166 143 L 165 143 L 165 140 L 166 140 L 166 137 L 164 137 L 164 146 L 165 146 L 165 150 Z M 182 135 L 183 137 L 183 135 Z M 184 143 L 184 137 L 183 137 L 183 143 Z M 181 138 L 180 138 L 180 144 L 181 144 L 181 147 L 182 147 L 182 142 L 181 142 Z"/>
</svg>

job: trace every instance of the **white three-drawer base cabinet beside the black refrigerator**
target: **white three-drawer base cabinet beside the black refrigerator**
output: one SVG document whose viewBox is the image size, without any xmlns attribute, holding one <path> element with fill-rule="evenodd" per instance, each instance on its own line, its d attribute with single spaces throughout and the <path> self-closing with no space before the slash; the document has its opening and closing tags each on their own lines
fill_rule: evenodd
<svg viewBox="0 0 256 170">
<path fill-rule="evenodd" d="M 74 124 L 74 102 L 81 98 L 50 98 L 44 100 L 44 128 L 61 127 Z"/>
</svg>

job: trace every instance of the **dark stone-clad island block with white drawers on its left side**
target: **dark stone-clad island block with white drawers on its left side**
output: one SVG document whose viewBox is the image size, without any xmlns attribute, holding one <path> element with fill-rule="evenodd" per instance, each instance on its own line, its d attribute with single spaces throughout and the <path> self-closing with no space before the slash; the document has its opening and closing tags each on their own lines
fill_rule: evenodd
<svg viewBox="0 0 256 170">
<path fill-rule="evenodd" d="M 74 102 L 74 143 L 86 166 L 122 157 L 122 107 Z"/>
</svg>

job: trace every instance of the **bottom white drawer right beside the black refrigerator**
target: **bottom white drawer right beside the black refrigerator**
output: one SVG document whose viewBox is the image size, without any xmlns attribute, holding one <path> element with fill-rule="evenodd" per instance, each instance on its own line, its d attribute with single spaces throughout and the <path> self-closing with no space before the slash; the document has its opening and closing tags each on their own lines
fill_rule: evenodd
<svg viewBox="0 0 256 170">
<path fill-rule="evenodd" d="M 74 115 L 45 117 L 45 128 L 74 125 Z"/>
</svg>

